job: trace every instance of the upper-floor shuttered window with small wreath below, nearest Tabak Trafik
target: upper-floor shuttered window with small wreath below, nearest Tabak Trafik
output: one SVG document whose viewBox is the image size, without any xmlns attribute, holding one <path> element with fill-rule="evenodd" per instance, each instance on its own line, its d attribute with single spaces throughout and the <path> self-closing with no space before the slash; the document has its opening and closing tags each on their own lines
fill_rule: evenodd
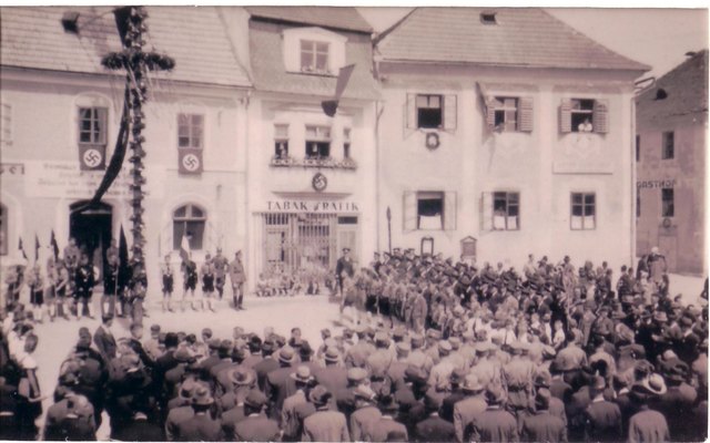
<svg viewBox="0 0 710 443">
<path fill-rule="evenodd" d="M 407 94 L 406 127 L 455 131 L 456 95 Z"/>
</svg>

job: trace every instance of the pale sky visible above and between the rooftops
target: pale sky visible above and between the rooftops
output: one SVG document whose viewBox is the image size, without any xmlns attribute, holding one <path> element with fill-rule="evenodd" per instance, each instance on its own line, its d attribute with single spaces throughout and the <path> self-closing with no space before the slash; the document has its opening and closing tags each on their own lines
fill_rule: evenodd
<svg viewBox="0 0 710 443">
<path fill-rule="evenodd" d="M 358 8 L 376 32 L 404 17 L 412 8 Z M 708 48 L 707 9 L 595 9 L 546 8 L 581 33 L 661 76 L 686 60 L 686 52 Z"/>
</svg>

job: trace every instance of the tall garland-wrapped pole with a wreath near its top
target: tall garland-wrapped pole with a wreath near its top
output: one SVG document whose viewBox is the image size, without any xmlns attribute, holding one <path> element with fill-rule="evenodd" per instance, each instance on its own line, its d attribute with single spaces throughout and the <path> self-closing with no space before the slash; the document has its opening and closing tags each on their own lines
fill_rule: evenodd
<svg viewBox="0 0 710 443">
<path fill-rule="evenodd" d="M 130 131 L 131 156 L 129 157 L 129 162 L 132 164 L 132 183 L 130 185 L 132 215 L 130 219 L 133 224 L 133 227 L 131 228 L 131 231 L 133 233 L 131 261 L 134 269 L 138 268 L 144 270 L 145 224 L 143 223 L 143 199 L 145 197 L 145 193 L 143 190 L 143 185 L 145 185 L 145 177 L 143 176 L 143 169 L 145 166 L 143 164 L 143 158 L 145 157 L 145 150 L 143 148 L 143 144 L 145 143 L 145 137 L 143 137 L 142 132 L 143 128 L 145 128 L 143 103 L 145 103 L 148 99 L 148 72 L 170 71 L 175 66 L 175 62 L 170 56 L 143 51 L 143 47 L 145 45 L 143 35 L 148 31 L 148 25 L 145 24 L 148 12 L 144 7 L 121 7 L 116 8 L 113 11 L 113 14 L 119 30 L 119 35 L 121 37 L 123 50 L 121 52 L 106 54 L 101 63 L 111 70 L 125 70 L 126 94 L 124 116 L 126 117 L 121 120 L 119 137 L 122 137 L 122 134 L 128 134 Z M 125 152 L 125 138 L 123 143 L 123 152 Z M 112 159 L 111 165 L 106 171 L 105 178 L 111 177 L 109 178 L 109 186 L 110 182 L 115 178 L 115 175 L 118 175 L 121 169 L 122 158 L 116 159 L 118 162 L 113 162 Z"/>
</svg>

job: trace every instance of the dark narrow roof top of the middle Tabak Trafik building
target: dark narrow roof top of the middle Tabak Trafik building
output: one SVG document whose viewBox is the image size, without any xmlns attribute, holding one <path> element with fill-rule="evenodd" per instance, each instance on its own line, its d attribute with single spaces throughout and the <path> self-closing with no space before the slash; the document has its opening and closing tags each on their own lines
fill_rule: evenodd
<svg viewBox="0 0 710 443">
<path fill-rule="evenodd" d="M 349 7 L 247 7 L 256 18 L 288 23 L 372 33 L 373 28 L 355 8 Z"/>
</svg>

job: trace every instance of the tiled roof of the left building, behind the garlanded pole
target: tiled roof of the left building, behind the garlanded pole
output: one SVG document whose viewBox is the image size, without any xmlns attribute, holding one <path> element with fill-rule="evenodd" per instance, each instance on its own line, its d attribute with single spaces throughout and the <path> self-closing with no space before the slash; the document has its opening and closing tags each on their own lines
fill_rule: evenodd
<svg viewBox="0 0 710 443">
<path fill-rule="evenodd" d="M 65 32 L 64 12 L 79 12 L 79 34 Z M 40 70 L 108 73 L 101 59 L 120 51 L 109 7 L 7 7 L 1 11 L 0 64 Z M 248 86 L 215 8 L 149 7 L 146 51 L 172 56 L 175 69 L 160 79 Z"/>
</svg>

